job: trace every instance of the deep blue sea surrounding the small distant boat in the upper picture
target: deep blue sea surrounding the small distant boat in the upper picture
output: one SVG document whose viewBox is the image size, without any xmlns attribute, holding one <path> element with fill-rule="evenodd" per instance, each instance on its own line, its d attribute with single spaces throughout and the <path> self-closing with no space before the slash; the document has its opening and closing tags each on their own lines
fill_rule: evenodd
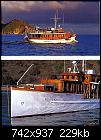
<svg viewBox="0 0 101 140">
<path fill-rule="evenodd" d="M 97 56 L 100 55 L 98 27 L 68 25 L 77 34 L 76 44 L 37 45 L 25 43 L 24 35 L 2 35 L 2 56 Z M 65 25 L 66 31 L 68 27 Z M 44 27 L 44 25 L 43 25 Z M 72 31 L 73 32 L 73 31 Z"/>
</svg>

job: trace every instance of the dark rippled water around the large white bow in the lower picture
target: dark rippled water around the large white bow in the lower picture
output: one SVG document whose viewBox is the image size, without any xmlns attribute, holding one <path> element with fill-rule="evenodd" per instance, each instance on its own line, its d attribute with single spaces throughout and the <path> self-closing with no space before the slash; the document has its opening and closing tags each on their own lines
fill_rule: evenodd
<svg viewBox="0 0 101 140">
<path fill-rule="evenodd" d="M 13 126 L 99 126 L 100 109 L 61 113 L 51 115 L 37 115 L 10 119 L 8 98 L 10 92 L 2 92 L 2 125 Z"/>
</svg>

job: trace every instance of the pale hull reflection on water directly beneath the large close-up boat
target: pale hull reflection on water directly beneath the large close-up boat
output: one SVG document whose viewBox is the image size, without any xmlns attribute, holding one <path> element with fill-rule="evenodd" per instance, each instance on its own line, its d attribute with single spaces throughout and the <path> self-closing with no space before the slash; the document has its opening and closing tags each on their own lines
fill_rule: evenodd
<svg viewBox="0 0 101 140">
<path fill-rule="evenodd" d="M 99 109 L 40 115 L 33 117 L 12 118 L 13 126 L 93 126 L 99 125 Z"/>
</svg>

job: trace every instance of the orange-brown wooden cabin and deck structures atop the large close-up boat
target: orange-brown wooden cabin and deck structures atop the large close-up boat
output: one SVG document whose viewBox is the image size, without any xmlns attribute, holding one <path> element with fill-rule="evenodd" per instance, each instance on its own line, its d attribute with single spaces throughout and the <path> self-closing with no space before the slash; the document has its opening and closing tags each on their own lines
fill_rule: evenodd
<svg viewBox="0 0 101 140">
<path fill-rule="evenodd" d="M 42 79 L 40 84 L 26 84 L 26 87 L 18 86 L 18 88 L 19 90 L 26 89 L 51 93 L 83 94 L 85 98 L 99 98 L 100 76 L 96 75 L 92 69 L 79 72 L 76 61 L 73 61 L 73 68 L 68 68 L 67 72 L 59 76 L 54 79 Z"/>
</svg>

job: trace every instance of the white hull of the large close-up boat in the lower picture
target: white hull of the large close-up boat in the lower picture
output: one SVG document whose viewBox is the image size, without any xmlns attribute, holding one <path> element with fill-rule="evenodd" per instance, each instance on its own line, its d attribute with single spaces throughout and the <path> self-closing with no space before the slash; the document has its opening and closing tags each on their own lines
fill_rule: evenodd
<svg viewBox="0 0 101 140">
<path fill-rule="evenodd" d="M 11 89 L 11 117 L 73 112 L 95 108 L 100 108 L 99 99 L 83 99 L 81 94 Z"/>
</svg>

